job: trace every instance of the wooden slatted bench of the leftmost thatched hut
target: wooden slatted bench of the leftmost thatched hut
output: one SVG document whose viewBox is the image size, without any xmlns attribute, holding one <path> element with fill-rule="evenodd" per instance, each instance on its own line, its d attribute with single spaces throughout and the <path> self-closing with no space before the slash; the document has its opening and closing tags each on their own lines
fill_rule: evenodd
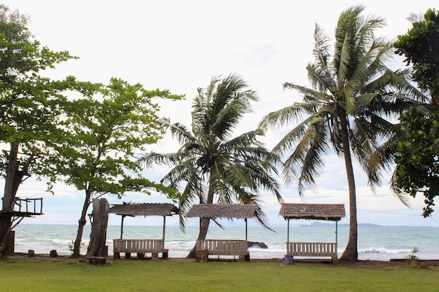
<svg viewBox="0 0 439 292">
<path fill-rule="evenodd" d="M 126 258 L 131 257 L 131 253 L 137 253 L 137 258 L 144 258 L 145 253 L 152 253 L 152 259 L 168 258 L 168 249 L 165 249 L 163 239 L 113 239 L 114 258 L 121 258 L 120 253 L 125 253 Z"/>
</svg>

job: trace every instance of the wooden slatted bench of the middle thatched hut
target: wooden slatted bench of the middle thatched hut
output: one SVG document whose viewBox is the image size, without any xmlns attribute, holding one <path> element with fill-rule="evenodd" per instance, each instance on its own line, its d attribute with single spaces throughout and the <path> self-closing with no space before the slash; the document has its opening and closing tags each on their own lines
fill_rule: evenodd
<svg viewBox="0 0 439 292">
<path fill-rule="evenodd" d="M 239 256 L 240 261 L 249 261 L 250 253 L 246 240 L 198 239 L 196 250 L 206 251 L 208 255 Z"/>
</svg>

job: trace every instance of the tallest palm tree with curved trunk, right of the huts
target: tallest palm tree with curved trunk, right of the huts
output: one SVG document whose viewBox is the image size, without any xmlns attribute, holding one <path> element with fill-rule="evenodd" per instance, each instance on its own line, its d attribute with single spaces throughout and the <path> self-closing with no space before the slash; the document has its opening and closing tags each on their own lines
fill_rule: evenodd
<svg viewBox="0 0 439 292">
<path fill-rule="evenodd" d="M 381 172 L 391 166 L 395 138 L 400 134 L 400 127 L 392 120 L 412 106 L 412 97 L 420 96 L 407 81 L 408 71 L 391 71 L 386 65 L 393 56 L 392 43 L 374 36 L 384 20 L 363 17 L 363 10 L 363 6 L 352 6 L 339 16 L 332 59 L 330 39 L 316 25 L 315 62 L 306 67 L 312 89 L 284 83 L 284 88 L 304 95 L 303 102 L 269 113 L 259 125 L 266 130 L 298 123 L 273 152 L 290 153 L 283 175 L 286 183 L 297 179 L 300 196 L 306 187 L 315 185 L 324 166 L 323 156 L 331 148 L 344 158 L 350 205 L 349 241 L 341 257 L 344 260 L 358 258 L 352 158 L 363 167 L 372 189 L 378 186 Z"/>
</svg>

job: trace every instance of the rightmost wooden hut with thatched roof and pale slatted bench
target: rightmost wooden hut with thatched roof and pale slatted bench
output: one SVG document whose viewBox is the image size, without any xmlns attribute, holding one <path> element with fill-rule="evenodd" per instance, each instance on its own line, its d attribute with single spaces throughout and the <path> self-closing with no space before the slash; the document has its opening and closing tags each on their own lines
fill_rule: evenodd
<svg viewBox="0 0 439 292">
<path fill-rule="evenodd" d="M 337 260 L 337 222 L 346 216 L 344 204 L 281 204 L 279 215 L 288 221 L 288 256 L 331 256 Z M 290 219 L 335 221 L 335 242 L 290 242 Z"/>
</svg>

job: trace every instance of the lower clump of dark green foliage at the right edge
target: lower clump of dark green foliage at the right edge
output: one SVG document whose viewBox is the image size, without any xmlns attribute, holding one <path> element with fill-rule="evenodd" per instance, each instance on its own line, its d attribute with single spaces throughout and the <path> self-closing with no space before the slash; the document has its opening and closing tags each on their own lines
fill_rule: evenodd
<svg viewBox="0 0 439 292">
<path fill-rule="evenodd" d="M 425 197 L 424 217 L 433 213 L 439 195 L 439 111 L 413 109 L 401 118 L 406 131 L 395 157 L 395 188 L 398 192 Z"/>
</svg>

